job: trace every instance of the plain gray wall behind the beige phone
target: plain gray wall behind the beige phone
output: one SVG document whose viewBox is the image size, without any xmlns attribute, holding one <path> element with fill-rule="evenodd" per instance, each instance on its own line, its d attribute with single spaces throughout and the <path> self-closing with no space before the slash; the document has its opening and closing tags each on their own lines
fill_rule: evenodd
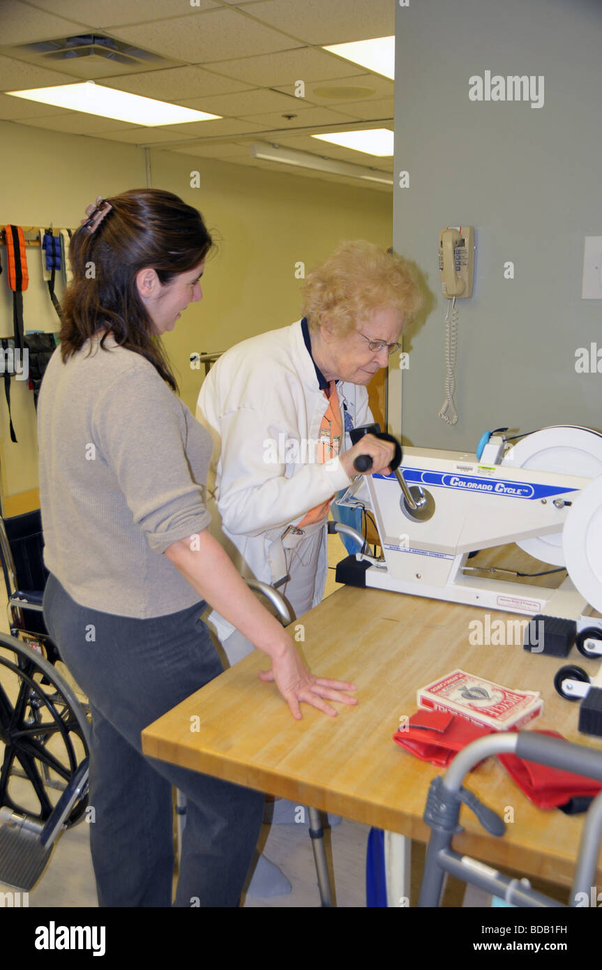
<svg viewBox="0 0 602 970">
<path fill-rule="evenodd" d="M 545 78 L 542 108 L 468 98 L 473 75 Z M 602 2 L 409 0 L 396 10 L 394 241 L 432 294 L 404 339 L 407 444 L 474 451 L 482 431 L 549 424 L 602 429 L 602 374 L 575 351 L 602 348 L 602 301 L 582 300 L 585 236 L 602 236 Z M 459 300 L 459 423 L 444 400 L 437 241 L 475 227 L 473 297 Z M 512 260 L 515 278 L 504 279 Z M 601 364 L 602 368 L 602 364 Z"/>
</svg>

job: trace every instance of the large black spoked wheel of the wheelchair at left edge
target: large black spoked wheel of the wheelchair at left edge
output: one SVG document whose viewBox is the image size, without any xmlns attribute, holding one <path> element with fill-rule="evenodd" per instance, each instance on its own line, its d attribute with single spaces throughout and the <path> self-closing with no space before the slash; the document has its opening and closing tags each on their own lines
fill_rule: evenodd
<svg viewBox="0 0 602 970">
<path fill-rule="evenodd" d="M 0 807 L 46 822 L 89 736 L 78 697 L 52 664 L 0 633 Z M 83 792 L 65 824 L 79 822 L 86 804 Z"/>
</svg>

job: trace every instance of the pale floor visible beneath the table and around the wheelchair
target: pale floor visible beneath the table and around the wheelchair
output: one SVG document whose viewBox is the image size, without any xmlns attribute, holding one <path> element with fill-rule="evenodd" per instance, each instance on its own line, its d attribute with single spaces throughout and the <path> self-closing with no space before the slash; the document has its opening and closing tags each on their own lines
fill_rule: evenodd
<svg viewBox="0 0 602 970">
<path fill-rule="evenodd" d="M 334 581 L 334 565 L 345 552 L 336 535 L 329 536 L 329 579 L 326 596 L 337 588 Z M 8 632 L 6 611 L 0 611 L 0 630 Z M 61 673 L 69 679 L 62 664 Z M 73 683 L 73 682 L 72 682 Z M 77 685 L 75 685 L 77 687 Z M 365 848 L 368 827 L 342 820 L 327 830 L 326 842 L 333 863 L 335 902 L 339 907 L 365 906 Z M 258 898 L 246 893 L 245 907 L 316 907 L 320 897 L 307 828 L 303 824 L 264 825 L 260 847 L 265 855 L 280 866 L 293 885 L 288 895 L 271 899 Z M 424 859 L 424 847 L 414 844 L 412 852 L 412 905 L 415 905 L 420 889 Z M 8 889 L 0 883 L 0 893 Z M 544 891 L 550 887 L 542 886 Z M 556 892 L 558 890 L 555 890 Z M 562 898 L 562 890 L 559 890 Z M 564 893 L 566 894 L 566 893 Z M 444 905 L 480 907 L 490 904 L 490 899 L 478 890 L 470 890 L 464 898 L 463 884 L 450 880 L 444 897 Z M 85 821 L 65 832 L 60 838 L 46 872 L 29 893 L 30 907 L 95 907 L 98 905 L 94 875 L 89 849 L 89 827 Z"/>
</svg>

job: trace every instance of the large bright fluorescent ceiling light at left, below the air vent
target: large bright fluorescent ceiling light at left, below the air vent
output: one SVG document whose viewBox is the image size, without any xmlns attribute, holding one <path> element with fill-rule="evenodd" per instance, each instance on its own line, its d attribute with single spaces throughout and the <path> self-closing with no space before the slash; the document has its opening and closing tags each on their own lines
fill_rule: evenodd
<svg viewBox="0 0 602 970">
<path fill-rule="evenodd" d="M 27 101 L 41 101 L 45 105 L 68 108 L 85 114 L 100 114 L 102 117 L 142 124 L 149 128 L 166 124 L 185 124 L 190 121 L 207 121 L 220 118 L 221 114 L 196 112 L 191 108 L 181 108 L 154 98 L 143 98 L 139 94 L 128 94 L 94 81 L 80 81 L 77 84 L 58 84 L 55 87 L 34 87 L 27 91 L 6 91 L 16 98 Z"/>
</svg>

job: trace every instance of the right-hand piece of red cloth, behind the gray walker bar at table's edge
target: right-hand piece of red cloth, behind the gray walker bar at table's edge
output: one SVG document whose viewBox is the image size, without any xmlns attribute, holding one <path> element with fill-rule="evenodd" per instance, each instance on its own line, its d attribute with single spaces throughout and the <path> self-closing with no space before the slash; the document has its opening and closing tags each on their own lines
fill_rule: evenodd
<svg viewBox="0 0 602 970">
<path fill-rule="evenodd" d="M 539 730 L 537 734 L 559 737 L 555 730 Z M 572 771 L 550 768 L 538 761 L 526 761 L 516 755 L 498 755 L 508 774 L 514 779 L 527 798 L 539 808 L 559 808 L 571 798 L 594 797 L 602 792 L 602 785 L 586 775 L 576 775 Z"/>
</svg>

